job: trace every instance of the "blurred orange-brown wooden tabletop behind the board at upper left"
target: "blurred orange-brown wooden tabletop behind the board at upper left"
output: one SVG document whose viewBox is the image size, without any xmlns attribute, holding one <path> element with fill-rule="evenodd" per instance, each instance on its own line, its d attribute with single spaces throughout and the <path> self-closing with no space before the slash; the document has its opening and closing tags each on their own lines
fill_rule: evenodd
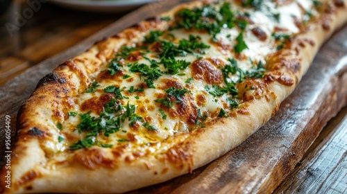
<svg viewBox="0 0 347 194">
<path fill-rule="evenodd" d="M 19 0 L 12 3 L 4 15 L 0 15 L 0 85 L 121 17 L 117 13 L 91 15 L 42 3 L 23 26 L 9 30 L 7 22 L 16 24 L 16 12 L 23 13 L 28 8 L 27 1 Z"/>
</svg>

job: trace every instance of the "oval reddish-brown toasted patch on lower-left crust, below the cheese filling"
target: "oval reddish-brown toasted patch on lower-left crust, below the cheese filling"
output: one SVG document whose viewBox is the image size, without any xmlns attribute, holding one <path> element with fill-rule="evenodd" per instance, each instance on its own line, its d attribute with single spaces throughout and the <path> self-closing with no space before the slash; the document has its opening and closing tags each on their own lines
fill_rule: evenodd
<svg viewBox="0 0 347 194">
<path fill-rule="evenodd" d="M 76 152 L 74 160 L 91 170 L 101 166 L 106 168 L 115 168 L 117 166 L 115 161 L 106 157 L 105 152 L 99 148 L 84 149 Z"/>
</svg>

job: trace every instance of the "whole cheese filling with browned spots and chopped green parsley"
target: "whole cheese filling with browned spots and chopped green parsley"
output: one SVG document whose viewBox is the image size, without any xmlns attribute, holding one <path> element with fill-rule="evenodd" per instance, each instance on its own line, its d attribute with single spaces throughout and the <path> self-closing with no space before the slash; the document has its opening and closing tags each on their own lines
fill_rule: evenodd
<svg viewBox="0 0 347 194">
<path fill-rule="evenodd" d="M 315 9 L 312 1 L 291 1 L 285 8 L 245 2 L 180 10 L 162 17 L 167 30 L 119 48 L 76 96 L 58 143 L 46 143 L 46 150 L 128 145 L 164 152 L 173 136 L 185 139 L 213 119 L 235 116 L 248 100 L 244 95 L 263 93 L 242 83 L 264 78 L 265 57 L 285 48 L 300 32 L 297 21 L 307 21 L 307 10 Z"/>
</svg>

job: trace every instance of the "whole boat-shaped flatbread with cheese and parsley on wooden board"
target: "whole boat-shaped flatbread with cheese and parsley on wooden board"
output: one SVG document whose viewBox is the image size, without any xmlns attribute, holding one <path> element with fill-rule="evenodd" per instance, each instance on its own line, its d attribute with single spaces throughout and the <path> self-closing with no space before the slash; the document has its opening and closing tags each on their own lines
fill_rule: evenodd
<svg viewBox="0 0 347 194">
<path fill-rule="evenodd" d="M 208 164 L 276 114 L 346 3 L 195 1 L 95 44 L 22 105 L 1 189 L 123 193 Z"/>
</svg>

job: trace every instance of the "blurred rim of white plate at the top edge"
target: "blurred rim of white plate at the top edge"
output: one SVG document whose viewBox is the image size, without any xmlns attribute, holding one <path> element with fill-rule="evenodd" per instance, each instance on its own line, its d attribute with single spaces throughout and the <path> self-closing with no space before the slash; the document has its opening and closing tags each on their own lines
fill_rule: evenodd
<svg viewBox="0 0 347 194">
<path fill-rule="evenodd" d="M 158 0 L 51 0 L 56 5 L 95 12 L 124 12 Z"/>
</svg>

